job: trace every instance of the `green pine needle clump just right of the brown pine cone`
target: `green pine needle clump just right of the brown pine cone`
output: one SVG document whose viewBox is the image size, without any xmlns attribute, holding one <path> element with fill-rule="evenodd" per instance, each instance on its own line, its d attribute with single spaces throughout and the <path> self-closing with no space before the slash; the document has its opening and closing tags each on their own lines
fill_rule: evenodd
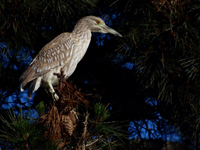
<svg viewBox="0 0 200 150">
<path fill-rule="evenodd" d="M 91 131 L 98 137 L 103 137 L 93 148 L 101 147 L 102 149 L 124 149 L 123 138 L 126 137 L 126 131 L 123 131 L 122 126 L 118 121 L 108 121 L 110 113 L 106 106 L 101 103 L 96 103 L 94 106 L 94 119 L 90 118 Z"/>
</svg>

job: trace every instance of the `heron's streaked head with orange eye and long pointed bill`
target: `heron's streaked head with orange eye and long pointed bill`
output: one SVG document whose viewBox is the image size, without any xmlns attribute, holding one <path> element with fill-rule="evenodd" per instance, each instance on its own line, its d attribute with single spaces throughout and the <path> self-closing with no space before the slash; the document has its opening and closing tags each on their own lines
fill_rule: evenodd
<svg viewBox="0 0 200 150">
<path fill-rule="evenodd" d="M 87 16 L 82 18 L 80 21 L 85 22 L 85 25 L 91 30 L 91 32 L 111 33 L 115 36 L 122 37 L 120 33 L 107 26 L 105 22 L 99 17 Z"/>
</svg>

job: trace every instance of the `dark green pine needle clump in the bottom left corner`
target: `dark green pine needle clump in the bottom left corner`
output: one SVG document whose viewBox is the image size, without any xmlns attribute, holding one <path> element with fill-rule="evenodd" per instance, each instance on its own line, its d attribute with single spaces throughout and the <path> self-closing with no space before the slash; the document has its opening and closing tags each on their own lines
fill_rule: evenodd
<svg viewBox="0 0 200 150">
<path fill-rule="evenodd" d="M 9 110 L 6 117 L 0 116 L 0 145 L 3 149 L 50 149 L 56 150 L 53 142 L 47 141 L 43 134 L 44 129 L 36 126 L 36 119 L 30 118 L 29 113 L 16 115 Z"/>
</svg>

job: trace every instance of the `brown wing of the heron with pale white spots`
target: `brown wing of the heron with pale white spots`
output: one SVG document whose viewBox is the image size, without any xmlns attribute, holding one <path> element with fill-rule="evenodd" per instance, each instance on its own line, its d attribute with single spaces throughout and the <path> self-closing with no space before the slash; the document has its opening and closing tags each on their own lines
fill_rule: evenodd
<svg viewBox="0 0 200 150">
<path fill-rule="evenodd" d="M 70 33 L 62 33 L 46 44 L 20 77 L 21 90 L 30 81 L 62 66 L 71 56 L 73 40 Z"/>
</svg>

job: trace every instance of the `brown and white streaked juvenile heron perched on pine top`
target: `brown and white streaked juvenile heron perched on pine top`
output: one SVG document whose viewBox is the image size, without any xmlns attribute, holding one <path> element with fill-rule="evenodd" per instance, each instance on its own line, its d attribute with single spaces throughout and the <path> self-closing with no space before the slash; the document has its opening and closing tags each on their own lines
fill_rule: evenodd
<svg viewBox="0 0 200 150">
<path fill-rule="evenodd" d="M 32 81 L 28 89 L 28 97 L 31 98 L 43 81 L 42 85 L 48 88 L 58 100 L 59 97 L 53 88 L 58 78 L 53 73 L 59 73 L 62 68 L 67 79 L 74 72 L 90 44 L 91 32 L 111 33 L 122 37 L 117 31 L 108 27 L 101 18 L 83 17 L 77 22 L 72 33 L 65 32 L 58 35 L 40 50 L 20 77 L 21 91 L 28 82 Z"/>
</svg>

